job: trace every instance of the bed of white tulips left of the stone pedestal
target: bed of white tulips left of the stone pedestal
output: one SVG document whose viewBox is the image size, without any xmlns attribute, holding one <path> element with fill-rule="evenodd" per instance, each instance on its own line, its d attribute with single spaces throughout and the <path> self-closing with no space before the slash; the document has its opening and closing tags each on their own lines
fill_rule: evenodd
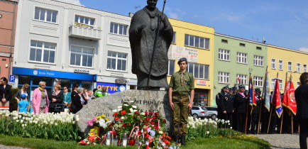
<svg viewBox="0 0 308 149">
<path fill-rule="evenodd" d="M 78 116 L 73 114 L 24 114 L 0 111 L 0 134 L 25 138 L 78 140 Z"/>
</svg>

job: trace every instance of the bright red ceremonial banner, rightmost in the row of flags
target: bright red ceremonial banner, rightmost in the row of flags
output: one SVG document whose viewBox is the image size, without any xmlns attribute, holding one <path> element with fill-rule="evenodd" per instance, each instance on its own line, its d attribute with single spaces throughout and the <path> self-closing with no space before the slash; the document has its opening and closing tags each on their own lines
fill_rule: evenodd
<svg viewBox="0 0 308 149">
<path fill-rule="evenodd" d="M 295 101 L 295 89 L 292 81 L 287 81 L 285 83 L 285 94 L 283 95 L 282 104 L 287 109 L 290 109 L 293 114 L 296 115 L 297 104 Z"/>
</svg>

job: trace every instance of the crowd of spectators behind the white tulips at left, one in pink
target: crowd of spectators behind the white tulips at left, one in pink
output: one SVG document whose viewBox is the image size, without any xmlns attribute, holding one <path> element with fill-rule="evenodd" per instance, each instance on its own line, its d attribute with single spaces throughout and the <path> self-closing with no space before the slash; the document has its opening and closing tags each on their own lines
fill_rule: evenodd
<svg viewBox="0 0 308 149">
<path fill-rule="evenodd" d="M 70 92 L 67 86 L 61 87 L 54 84 L 53 92 L 48 94 L 45 89 L 46 82 L 39 82 L 38 88 L 34 89 L 32 98 L 29 98 L 29 84 L 23 84 L 13 96 L 11 85 L 8 84 L 6 77 L 0 79 L 0 109 L 9 109 L 19 112 L 33 112 L 34 114 L 70 112 L 76 114 L 80 109 L 87 105 L 92 99 L 107 96 L 109 93 L 106 87 L 101 89 L 84 89 L 79 84 L 74 84 Z M 13 99 L 12 99 L 13 96 Z M 31 99 L 31 100 L 30 100 Z M 16 100 L 17 107 L 13 107 L 13 100 Z"/>
</svg>

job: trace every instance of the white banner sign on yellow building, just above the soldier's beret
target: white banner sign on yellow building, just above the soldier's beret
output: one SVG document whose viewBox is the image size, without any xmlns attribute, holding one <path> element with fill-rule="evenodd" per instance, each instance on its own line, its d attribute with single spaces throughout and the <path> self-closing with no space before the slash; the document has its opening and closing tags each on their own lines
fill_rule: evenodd
<svg viewBox="0 0 308 149">
<path fill-rule="evenodd" d="M 186 57 L 188 62 L 198 61 L 198 50 L 193 48 L 180 47 L 177 45 L 170 45 L 168 50 L 168 58 L 172 60 L 179 60 Z"/>
</svg>

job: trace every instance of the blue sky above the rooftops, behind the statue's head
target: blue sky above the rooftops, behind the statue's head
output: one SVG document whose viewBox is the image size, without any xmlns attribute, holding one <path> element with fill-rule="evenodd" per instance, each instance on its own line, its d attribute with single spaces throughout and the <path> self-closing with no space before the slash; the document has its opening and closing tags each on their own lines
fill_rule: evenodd
<svg viewBox="0 0 308 149">
<path fill-rule="evenodd" d="M 146 0 L 57 0 L 128 16 Z M 163 10 L 163 0 L 158 0 Z M 169 18 L 215 28 L 216 33 L 308 52 L 307 0 L 167 0 Z"/>
</svg>

